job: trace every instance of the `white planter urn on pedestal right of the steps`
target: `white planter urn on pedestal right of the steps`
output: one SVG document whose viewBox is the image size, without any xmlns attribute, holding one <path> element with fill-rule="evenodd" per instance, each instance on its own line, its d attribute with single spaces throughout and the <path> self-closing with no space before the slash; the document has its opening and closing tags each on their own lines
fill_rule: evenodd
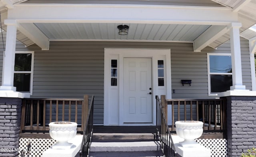
<svg viewBox="0 0 256 157">
<path fill-rule="evenodd" d="M 202 121 L 176 121 L 176 133 L 179 137 L 185 139 L 180 142 L 182 147 L 197 147 L 198 143 L 194 139 L 202 136 L 203 125 Z"/>
</svg>

